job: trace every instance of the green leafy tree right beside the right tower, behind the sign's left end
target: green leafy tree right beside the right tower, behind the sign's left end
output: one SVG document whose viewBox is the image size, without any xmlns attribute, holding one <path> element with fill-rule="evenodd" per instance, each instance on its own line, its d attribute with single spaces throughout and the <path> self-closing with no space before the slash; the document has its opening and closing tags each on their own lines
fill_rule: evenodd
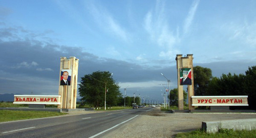
<svg viewBox="0 0 256 138">
<path fill-rule="evenodd" d="M 212 78 L 210 68 L 195 66 L 194 68 L 195 96 L 204 96 L 207 86 Z"/>
</svg>

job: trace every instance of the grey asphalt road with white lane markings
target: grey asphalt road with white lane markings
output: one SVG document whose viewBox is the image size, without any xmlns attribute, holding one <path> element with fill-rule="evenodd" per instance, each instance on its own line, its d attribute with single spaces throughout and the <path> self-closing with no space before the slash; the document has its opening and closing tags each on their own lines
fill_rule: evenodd
<svg viewBox="0 0 256 138">
<path fill-rule="evenodd" d="M 153 108 L 0 123 L 0 137 L 100 137 Z"/>
</svg>

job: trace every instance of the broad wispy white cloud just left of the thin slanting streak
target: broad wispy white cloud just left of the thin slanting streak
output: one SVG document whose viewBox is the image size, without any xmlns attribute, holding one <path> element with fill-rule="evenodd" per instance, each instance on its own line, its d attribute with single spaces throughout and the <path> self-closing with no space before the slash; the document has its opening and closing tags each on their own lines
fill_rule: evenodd
<svg viewBox="0 0 256 138">
<path fill-rule="evenodd" d="M 159 47 L 165 49 L 164 54 L 160 53 L 160 57 L 170 57 L 172 51 L 177 51 L 174 45 L 180 42 L 179 28 L 175 31 L 171 30 L 165 13 L 165 4 L 162 1 L 157 1 L 156 7 L 152 11 L 148 11 L 144 17 L 144 29 L 150 35 L 153 42 L 156 42 Z M 176 35 L 175 35 L 175 33 Z"/>
</svg>

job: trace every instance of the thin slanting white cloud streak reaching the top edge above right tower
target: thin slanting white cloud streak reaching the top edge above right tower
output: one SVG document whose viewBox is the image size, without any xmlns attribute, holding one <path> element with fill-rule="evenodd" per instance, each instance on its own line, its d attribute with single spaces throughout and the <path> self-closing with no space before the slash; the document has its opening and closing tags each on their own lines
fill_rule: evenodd
<svg viewBox="0 0 256 138">
<path fill-rule="evenodd" d="M 200 2 L 199 0 L 194 1 L 194 3 L 191 5 L 191 7 L 189 9 L 189 12 L 188 12 L 188 15 L 185 19 L 184 27 L 183 27 L 183 33 L 184 34 L 187 34 L 189 32 L 189 29 L 190 29 L 190 26 L 191 26 L 192 21 L 194 19 L 194 16 L 196 14 L 199 2 Z"/>
</svg>

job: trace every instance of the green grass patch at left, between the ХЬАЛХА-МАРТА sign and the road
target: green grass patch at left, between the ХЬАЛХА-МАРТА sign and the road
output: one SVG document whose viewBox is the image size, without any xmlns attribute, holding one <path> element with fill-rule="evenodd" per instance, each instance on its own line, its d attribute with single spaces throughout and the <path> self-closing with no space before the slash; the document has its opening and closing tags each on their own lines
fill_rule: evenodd
<svg viewBox="0 0 256 138">
<path fill-rule="evenodd" d="M 61 116 L 63 112 L 0 110 L 0 122 Z"/>
</svg>

